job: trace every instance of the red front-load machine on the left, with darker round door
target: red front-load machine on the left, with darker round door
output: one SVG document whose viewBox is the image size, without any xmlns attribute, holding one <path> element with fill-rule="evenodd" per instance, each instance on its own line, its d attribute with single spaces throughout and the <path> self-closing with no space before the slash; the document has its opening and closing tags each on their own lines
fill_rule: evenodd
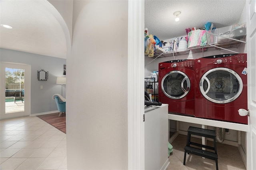
<svg viewBox="0 0 256 170">
<path fill-rule="evenodd" d="M 194 59 L 172 60 L 158 65 L 158 97 L 168 112 L 194 116 Z"/>
</svg>

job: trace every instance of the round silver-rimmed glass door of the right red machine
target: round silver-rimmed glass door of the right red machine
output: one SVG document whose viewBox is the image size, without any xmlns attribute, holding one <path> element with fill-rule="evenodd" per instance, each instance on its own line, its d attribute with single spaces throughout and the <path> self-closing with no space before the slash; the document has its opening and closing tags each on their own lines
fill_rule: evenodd
<svg viewBox="0 0 256 170">
<path fill-rule="evenodd" d="M 202 95 L 209 101 L 229 103 L 242 93 L 243 82 L 232 69 L 218 67 L 204 73 L 199 87 Z"/>
</svg>

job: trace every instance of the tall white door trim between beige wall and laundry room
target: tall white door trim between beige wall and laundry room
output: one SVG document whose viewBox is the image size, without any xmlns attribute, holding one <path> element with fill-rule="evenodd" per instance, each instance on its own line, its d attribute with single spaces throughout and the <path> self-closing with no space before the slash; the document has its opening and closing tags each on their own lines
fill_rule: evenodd
<svg viewBox="0 0 256 170">
<path fill-rule="evenodd" d="M 128 0 L 128 169 L 145 169 L 144 0 Z"/>
</svg>

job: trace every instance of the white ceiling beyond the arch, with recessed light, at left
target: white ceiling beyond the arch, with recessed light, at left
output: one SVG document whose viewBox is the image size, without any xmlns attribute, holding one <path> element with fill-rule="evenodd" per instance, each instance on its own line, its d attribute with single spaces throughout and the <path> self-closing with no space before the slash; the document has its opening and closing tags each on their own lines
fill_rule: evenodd
<svg viewBox="0 0 256 170">
<path fill-rule="evenodd" d="M 0 47 L 52 57 L 66 58 L 66 38 L 46 0 L 1 0 Z M 55 10 L 50 10 L 55 9 Z"/>
</svg>

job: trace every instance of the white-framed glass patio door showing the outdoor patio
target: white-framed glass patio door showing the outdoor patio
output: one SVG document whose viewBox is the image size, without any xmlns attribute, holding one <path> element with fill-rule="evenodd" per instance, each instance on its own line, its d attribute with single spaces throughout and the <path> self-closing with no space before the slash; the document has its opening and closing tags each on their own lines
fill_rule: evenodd
<svg viewBox="0 0 256 170">
<path fill-rule="evenodd" d="M 30 115 L 30 65 L 1 63 L 0 119 Z"/>
</svg>

